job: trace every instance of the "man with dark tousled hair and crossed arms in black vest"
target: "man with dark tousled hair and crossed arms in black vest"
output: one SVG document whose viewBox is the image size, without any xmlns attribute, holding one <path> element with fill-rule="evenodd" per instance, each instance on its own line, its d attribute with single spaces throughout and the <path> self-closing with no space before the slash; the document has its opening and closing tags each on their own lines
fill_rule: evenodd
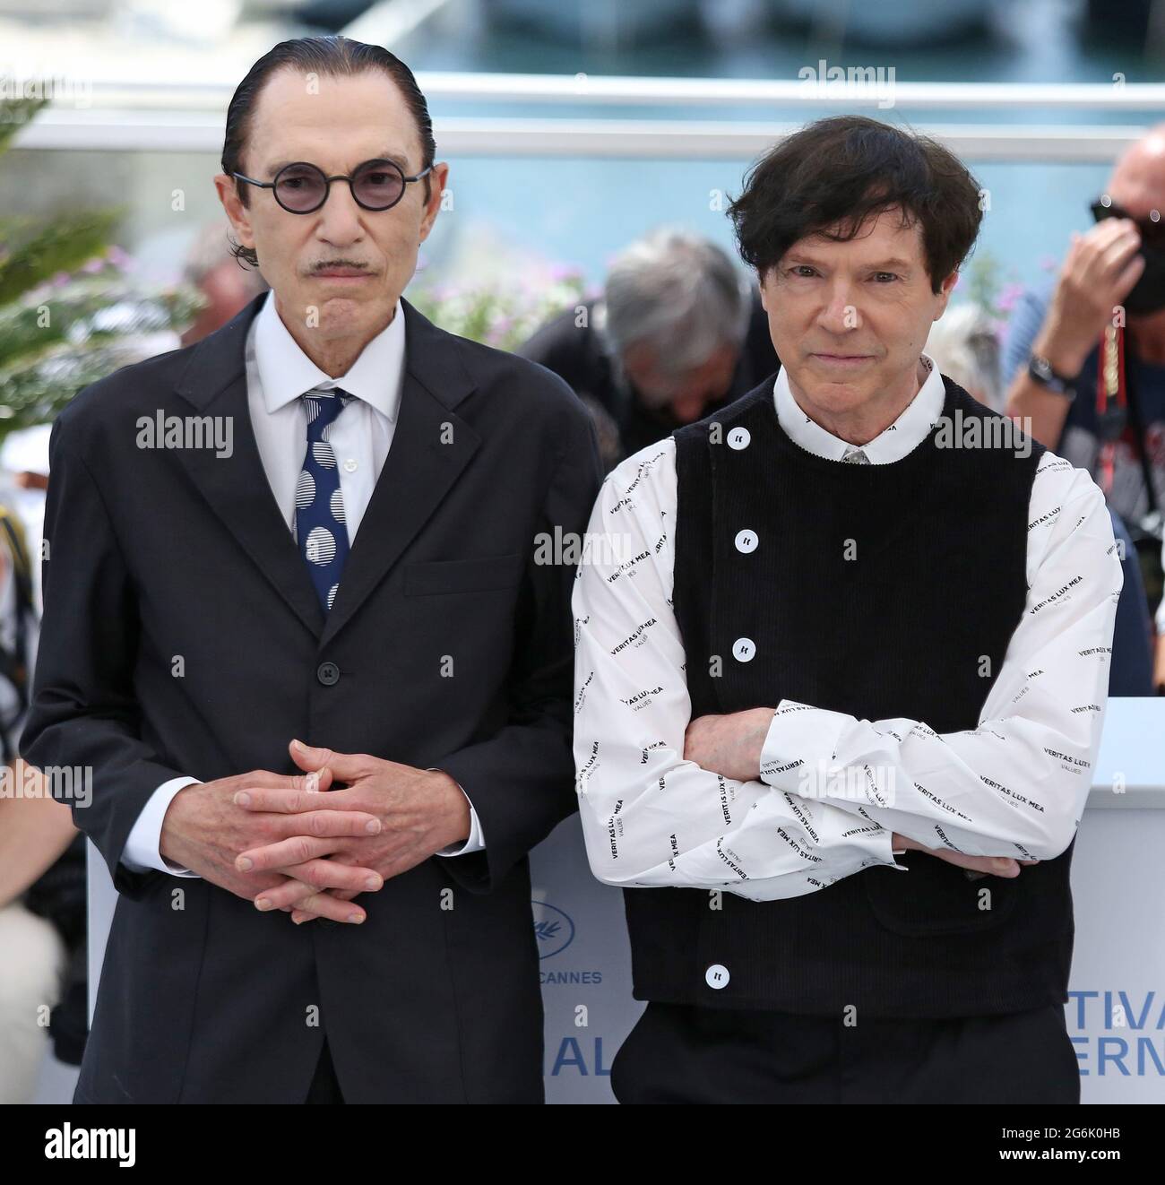
<svg viewBox="0 0 1165 1185">
<path fill-rule="evenodd" d="M 622 555 L 574 600 L 584 835 L 648 1001 L 612 1085 L 1078 1101 L 1103 498 L 923 353 L 981 218 L 942 146 L 822 120 L 730 213 L 781 370 L 610 474 Z"/>
</svg>

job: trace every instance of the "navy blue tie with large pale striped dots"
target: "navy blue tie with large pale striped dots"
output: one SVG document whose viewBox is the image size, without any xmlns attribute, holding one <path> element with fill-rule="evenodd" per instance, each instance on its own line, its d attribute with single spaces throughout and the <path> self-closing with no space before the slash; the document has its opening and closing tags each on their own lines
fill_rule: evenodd
<svg viewBox="0 0 1165 1185">
<path fill-rule="evenodd" d="M 295 538 L 315 594 L 327 613 L 335 601 L 348 558 L 340 470 L 328 433 L 354 396 L 333 387 L 308 391 L 302 398 L 307 409 L 307 453 L 295 482 Z"/>
</svg>

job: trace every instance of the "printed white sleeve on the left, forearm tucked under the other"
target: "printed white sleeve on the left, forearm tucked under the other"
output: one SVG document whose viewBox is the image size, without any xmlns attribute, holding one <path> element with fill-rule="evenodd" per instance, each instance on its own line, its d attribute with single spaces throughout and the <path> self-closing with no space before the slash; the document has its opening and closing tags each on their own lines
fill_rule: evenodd
<svg viewBox="0 0 1165 1185">
<path fill-rule="evenodd" d="M 684 760 L 691 718 L 672 611 L 674 444 L 604 482 L 575 583 L 575 764 L 595 876 L 622 886 L 798 897 L 873 864 L 890 832 L 827 802 Z"/>
</svg>

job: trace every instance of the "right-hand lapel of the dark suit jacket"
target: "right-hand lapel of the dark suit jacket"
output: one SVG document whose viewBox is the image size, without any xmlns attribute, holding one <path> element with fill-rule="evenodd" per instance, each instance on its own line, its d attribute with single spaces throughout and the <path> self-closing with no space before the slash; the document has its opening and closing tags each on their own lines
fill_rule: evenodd
<svg viewBox="0 0 1165 1185">
<path fill-rule="evenodd" d="M 321 646 L 384 579 L 480 444 L 478 434 L 453 410 L 474 389 L 456 339 L 407 301 L 401 303 L 405 370 L 392 446 L 344 565 Z"/>
</svg>

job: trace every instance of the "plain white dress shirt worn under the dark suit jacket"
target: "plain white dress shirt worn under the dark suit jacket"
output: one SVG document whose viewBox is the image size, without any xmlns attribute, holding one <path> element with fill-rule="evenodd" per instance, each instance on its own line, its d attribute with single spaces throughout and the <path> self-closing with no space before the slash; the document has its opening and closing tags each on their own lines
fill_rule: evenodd
<svg viewBox="0 0 1165 1185">
<path fill-rule="evenodd" d="M 307 409 L 300 398 L 334 386 L 356 398 L 332 424 L 328 441 L 335 453 L 348 544 L 356 540 L 364 512 L 392 444 L 404 378 L 404 313 L 397 301 L 392 320 L 360 352 L 343 378 L 325 374 L 300 348 L 268 293 L 251 321 L 244 347 L 247 402 L 263 472 L 283 520 L 295 536 L 295 482 L 307 451 Z M 288 737 L 288 741 L 292 738 Z M 174 795 L 197 777 L 174 777 L 151 795 L 126 840 L 121 863 L 135 872 L 156 869 L 174 876 L 181 869 L 160 852 L 162 820 Z M 462 790 L 462 793 L 465 793 Z M 468 795 L 466 796 L 468 800 Z M 469 803 L 469 838 L 437 856 L 465 856 L 485 847 L 481 822 Z"/>
</svg>

